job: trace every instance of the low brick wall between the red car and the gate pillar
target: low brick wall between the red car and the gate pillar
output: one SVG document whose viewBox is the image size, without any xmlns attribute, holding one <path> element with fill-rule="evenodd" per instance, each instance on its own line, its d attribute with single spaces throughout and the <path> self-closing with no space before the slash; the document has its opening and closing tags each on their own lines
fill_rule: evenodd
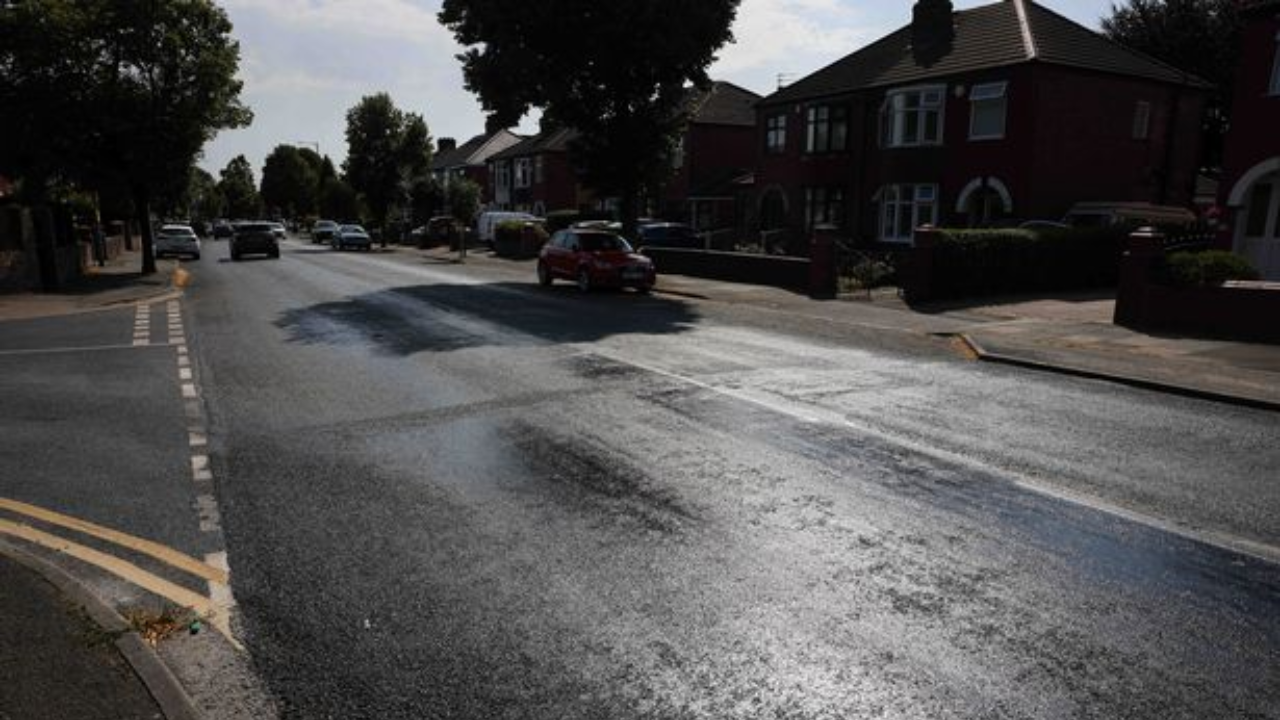
<svg viewBox="0 0 1280 720">
<path fill-rule="evenodd" d="M 658 274 L 671 273 L 716 281 L 740 282 L 809 292 L 809 260 L 748 252 L 645 247 Z"/>
</svg>

